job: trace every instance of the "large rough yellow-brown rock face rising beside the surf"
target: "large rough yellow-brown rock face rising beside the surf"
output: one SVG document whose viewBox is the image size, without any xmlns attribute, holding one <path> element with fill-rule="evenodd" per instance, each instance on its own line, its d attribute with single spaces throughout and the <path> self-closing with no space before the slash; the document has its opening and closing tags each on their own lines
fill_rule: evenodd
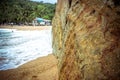
<svg viewBox="0 0 120 80">
<path fill-rule="evenodd" d="M 120 1 L 58 0 L 53 53 L 59 80 L 120 80 Z"/>
</svg>

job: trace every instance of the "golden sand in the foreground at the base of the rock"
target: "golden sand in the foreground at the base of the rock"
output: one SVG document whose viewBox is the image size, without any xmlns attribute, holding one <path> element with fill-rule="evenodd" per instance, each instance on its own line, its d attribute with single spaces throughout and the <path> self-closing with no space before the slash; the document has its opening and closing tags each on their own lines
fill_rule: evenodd
<svg viewBox="0 0 120 80">
<path fill-rule="evenodd" d="M 58 80 L 57 59 L 49 54 L 16 69 L 1 70 L 0 80 Z"/>
</svg>

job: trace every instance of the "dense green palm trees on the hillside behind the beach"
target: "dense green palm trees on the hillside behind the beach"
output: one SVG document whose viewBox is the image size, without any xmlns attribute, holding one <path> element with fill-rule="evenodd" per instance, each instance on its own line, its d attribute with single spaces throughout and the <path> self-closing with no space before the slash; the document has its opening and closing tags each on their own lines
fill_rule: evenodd
<svg viewBox="0 0 120 80">
<path fill-rule="evenodd" d="M 36 17 L 52 20 L 55 4 L 30 0 L 1 0 L 0 24 L 32 22 Z"/>
</svg>

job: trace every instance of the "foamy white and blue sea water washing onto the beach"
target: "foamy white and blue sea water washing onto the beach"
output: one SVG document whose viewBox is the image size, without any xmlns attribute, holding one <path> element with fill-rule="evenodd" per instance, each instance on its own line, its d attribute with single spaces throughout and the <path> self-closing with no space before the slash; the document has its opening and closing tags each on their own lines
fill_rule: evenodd
<svg viewBox="0 0 120 80">
<path fill-rule="evenodd" d="M 0 29 L 0 70 L 17 68 L 51 53 L 51 29 L 41 31 Z"/>
</svg>

